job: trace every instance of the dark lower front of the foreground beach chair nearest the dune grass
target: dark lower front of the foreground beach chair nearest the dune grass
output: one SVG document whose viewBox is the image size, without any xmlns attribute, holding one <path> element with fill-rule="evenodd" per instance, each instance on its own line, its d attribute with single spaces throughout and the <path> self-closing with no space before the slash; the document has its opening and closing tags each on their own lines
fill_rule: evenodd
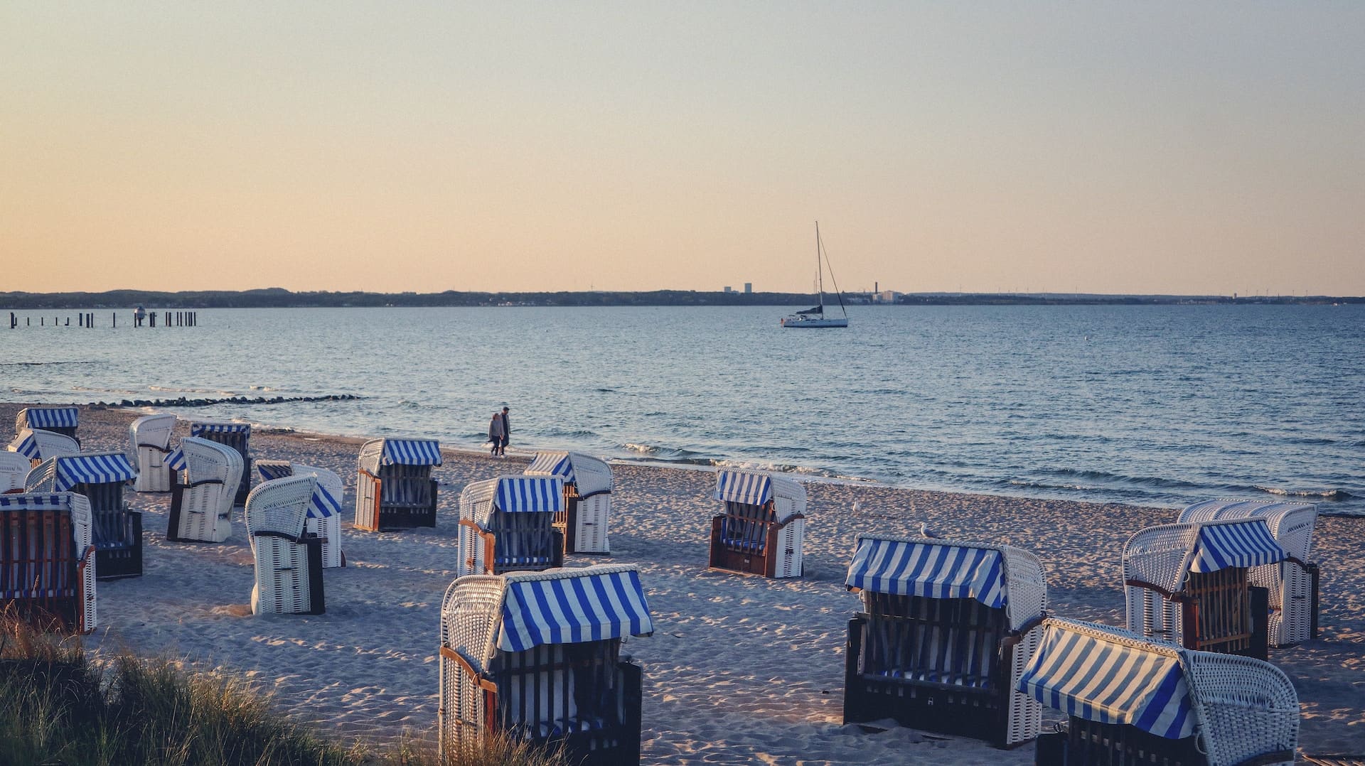
<svg viewBox="0 0 1365 766">
<path fill-rule="evenodd" d="M 571 763 L 586 766 L 627 766 L 640 762 L 640 728 L 643 672 L 631 658 L 620 657 L 621 639 L 583 643 L 542 644 L 526 651 L 500 654 L 483 675 L 460 653 L 441 647 L 441 655 L 453 659 L 460 673 L 482 691 L 482 721 L 453 721 L 463 735 L 461 743 L 476 743 L 479 732 L 504 732 L 513 739 L 551 750 L 562 747 Z M 571 673 L 572 683 L 561 679 L 558 699 L 546 699 L 547 684 L 538 683 L 551 673 Z M 512 690 L 519 694 L 512 695 Z M 572 699 L 571 699 L 572 690 Z M 520 699 L 520 710 L 511 707 Z M 572 721 L 535 721 L 534 711 L 557 702 L 558 710 L 576 707 Z M 450 711 L 446 711 L 449 714 Z"/>
</svg>

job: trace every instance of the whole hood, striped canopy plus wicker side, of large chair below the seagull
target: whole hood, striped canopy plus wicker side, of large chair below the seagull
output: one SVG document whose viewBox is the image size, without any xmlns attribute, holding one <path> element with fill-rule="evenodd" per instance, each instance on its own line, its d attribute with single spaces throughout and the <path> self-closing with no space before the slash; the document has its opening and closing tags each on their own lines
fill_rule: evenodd
<svg viewBox="0 0 1365 766">
<path fill-rule="evenodd" d="M 973 598 L 1005 609 L 1018 629 L 1043 613 L 1047 580 L 1037 557 L 1007 545 L 859 535 L 849 590 L 925 598 Z"/>
</svg>

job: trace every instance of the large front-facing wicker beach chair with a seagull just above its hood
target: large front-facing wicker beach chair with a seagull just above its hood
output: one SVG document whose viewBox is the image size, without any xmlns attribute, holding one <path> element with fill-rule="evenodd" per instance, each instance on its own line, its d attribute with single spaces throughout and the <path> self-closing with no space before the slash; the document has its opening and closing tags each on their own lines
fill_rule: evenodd
<svg viewBox="0 0 1365 766">
<path fill-rule="evenodd" d="M 1037 649 L 1047 579 L 1007 545 L 859 535 L 845 580 L 849 621 L 844 722 L 895 718 L 916 729 L 1014 747 L 1041 707 L 1014 691 Z"/>
</svg>

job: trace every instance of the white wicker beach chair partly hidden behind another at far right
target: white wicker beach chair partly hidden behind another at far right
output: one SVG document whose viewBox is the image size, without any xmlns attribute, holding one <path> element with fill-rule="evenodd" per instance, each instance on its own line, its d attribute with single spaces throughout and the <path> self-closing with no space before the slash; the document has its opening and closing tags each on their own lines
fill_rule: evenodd
<svg viewBox="0 0 1365 766">
<path fill-rule="evenodd" d="M 1178 522 L 1265 519 L 1275 542 L 1289 553 L 1279 564 L 1252 567 L 1250 584 L 1269 593 L 1268 640 L 1293 646 L 1317 638 L 1319 568 L 1313 563 L 1317 505 L 1265 500 L 1205 500 L 1181 512 Z"/>
</svg>

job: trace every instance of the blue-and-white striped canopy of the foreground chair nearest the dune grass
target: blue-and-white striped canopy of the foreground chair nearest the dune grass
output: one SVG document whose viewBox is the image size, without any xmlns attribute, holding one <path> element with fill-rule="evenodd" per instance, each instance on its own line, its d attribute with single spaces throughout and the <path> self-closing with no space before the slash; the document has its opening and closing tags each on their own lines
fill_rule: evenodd
<svg viewBox="0 0 1365 766">
<path fill-rule="evenodd" d="M 654 632 L 650 605 L 633 568 L 588 567 L 508 575 L 497 647 L 524 651 L 547 643 L 646 636 Z"/>
</svg>

